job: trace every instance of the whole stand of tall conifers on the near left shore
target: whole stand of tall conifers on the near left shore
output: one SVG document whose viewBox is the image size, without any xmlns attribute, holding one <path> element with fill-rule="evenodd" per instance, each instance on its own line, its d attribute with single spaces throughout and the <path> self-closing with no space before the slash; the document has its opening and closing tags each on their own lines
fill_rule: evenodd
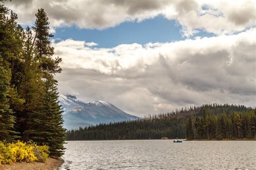
<svg viewBox="0 0 256 170">
<path fill-rule="evenodd" d="M 32 28 L 17 24 L 17 15 L 0 3 L 0 141 L 33 141 L 63 154 L 65 129 L 58 104 L 48 17 L 36 13 Z"/>
</svg>

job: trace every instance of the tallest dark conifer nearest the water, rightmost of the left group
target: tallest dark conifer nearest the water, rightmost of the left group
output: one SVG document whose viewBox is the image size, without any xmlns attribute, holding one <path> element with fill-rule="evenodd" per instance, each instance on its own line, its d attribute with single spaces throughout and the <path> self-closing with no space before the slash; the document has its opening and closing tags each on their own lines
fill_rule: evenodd
<svg viewBox="0 0 256 170">
<path fill-rule="evenodd" d="M 36 59 L 39 60 L 39 68 L 43 73 L 42 109 L 37 113 L 38 124 L 30 132 L 33 132 L 37 143 L 50 146 L 50 154 L 60 156 L 63 154 L 65 129 L 63 128 L 62 110 L 58 104 L 57 81 L 54 79 L 56 73 L 61 72 L 60 58 L 52 59 L 53 47 L 51 47 L 48 17 L 43 9 L 36 13 L 36 22 L 33 30 L 36 32 L 35 51 Z M 32 123 L 34 124 L 34 123 Z"/>
</svg>

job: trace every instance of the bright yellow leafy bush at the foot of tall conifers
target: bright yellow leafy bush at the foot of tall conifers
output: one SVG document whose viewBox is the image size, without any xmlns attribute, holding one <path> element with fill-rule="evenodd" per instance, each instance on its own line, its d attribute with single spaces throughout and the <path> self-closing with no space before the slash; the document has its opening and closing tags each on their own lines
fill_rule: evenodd
<svg viewBox="0 0 256 170">
<path fill-rule="evenodd" d="M 39 153 L 36 153 L 38 152 Z M 3 143 L 0 141 L 0 164 L 10 164 L 12 162 L 32 162 L 45 161 L 49 157 L 49 146 L 37 146 L 36 144 L 26 144 L 22 141 L 16 143 Z M 38 155 L 38 158 L 37 156 Z M 40 158 L 39 158 L 40 157 Z"/>
</svg>

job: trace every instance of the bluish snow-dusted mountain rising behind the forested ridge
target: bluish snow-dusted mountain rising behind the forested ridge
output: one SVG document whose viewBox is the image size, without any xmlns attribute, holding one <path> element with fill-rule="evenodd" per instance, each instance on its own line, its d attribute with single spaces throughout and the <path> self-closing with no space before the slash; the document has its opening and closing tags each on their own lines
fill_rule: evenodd
<svg viewBox="0 0 256 170">
<path fill-rule="evenodd" d="M 105 101 L 85 103 L 77 100 L 74 95 L 59 95 L 59 104 L 64 114 L 64 128 L 78 129 L 79 127 L 138 119 L 139 117 L 126 114 L 113 104 Z"/>
</svg>

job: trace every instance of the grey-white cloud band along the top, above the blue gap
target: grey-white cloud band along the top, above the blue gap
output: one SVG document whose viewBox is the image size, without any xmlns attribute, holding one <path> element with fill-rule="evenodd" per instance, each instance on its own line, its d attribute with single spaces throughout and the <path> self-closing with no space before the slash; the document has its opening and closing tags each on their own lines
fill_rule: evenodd
<svg viewBox="0 0 256 170">
<path fill-rule="evenodd" d="M 75 24 L 81 29 L 105 29 L 162 15 L 177 20 L 181 33 L 190 37 L 198 30 L 233 34 L 256 23 L 253 0 L 13 0 L 5 4 L 18 14 L 20 23 L 29 25 L 35 20 L 37 9 L 44 8 L 52 27 Z"/>
</svg>

